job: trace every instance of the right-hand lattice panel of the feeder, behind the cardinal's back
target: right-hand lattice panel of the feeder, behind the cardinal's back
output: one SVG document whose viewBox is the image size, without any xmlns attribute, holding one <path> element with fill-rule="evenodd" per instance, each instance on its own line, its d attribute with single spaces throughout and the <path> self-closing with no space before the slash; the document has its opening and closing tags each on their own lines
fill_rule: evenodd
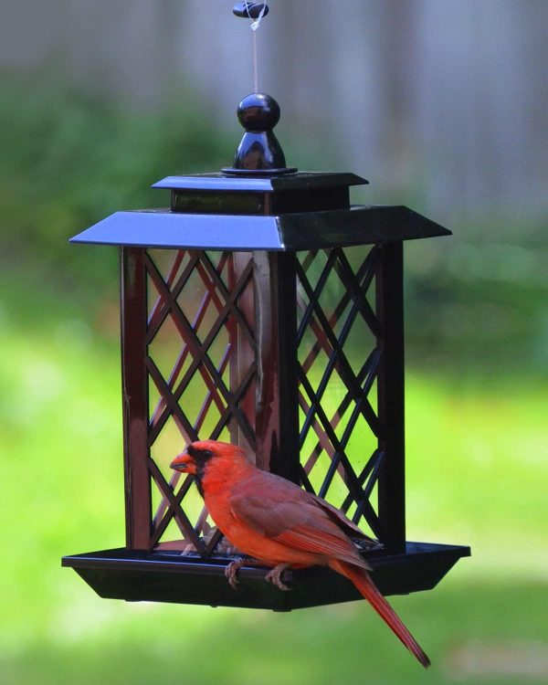
<svg viewBox="0 0 548 685">
<path fill-rule="evenodd" d="M 380 537 L 377 267 L 375 248 L 300 253 L 297 306 L 302 483 Z"/>
</svg>

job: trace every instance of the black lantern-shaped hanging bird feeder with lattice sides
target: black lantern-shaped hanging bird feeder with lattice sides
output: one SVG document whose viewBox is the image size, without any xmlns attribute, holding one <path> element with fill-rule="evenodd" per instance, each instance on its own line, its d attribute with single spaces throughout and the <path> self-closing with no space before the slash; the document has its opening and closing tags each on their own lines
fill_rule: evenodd
<svg viewBox="0 0 548 685">
<path fill-rule="evenodd" d="M 118 246 L 126 544 L 67 556 L 103 597 L 290 610 L 361 598 L 323 568 L 292 592 L 243 567 L 192 481 L 197 439 L 235 443 L 379 541 L 385 595 L 427 590 L 463 546 L 406 541 L 403 246 L 450 232 L 405 206 L 351 205 L 354 174 L 286 166 L 279 106 L 240 103 L 232 165 L 168 176 L 165 209 L 121 211 L 73 243 Z"/>
</svg>

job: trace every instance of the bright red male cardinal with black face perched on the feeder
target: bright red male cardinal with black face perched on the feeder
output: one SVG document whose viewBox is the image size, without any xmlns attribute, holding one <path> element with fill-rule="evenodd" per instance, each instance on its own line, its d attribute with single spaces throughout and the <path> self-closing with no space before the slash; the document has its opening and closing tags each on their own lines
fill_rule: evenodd
<svg viewBox="0 0 548 685">
<path fill-rule="evenodd" d="M 172 469 L 191 473 L 211 518 L 227 540 L 255 563 L 273 566 L 266 578 L 282 590 L 286 568 L 329 566 L 349 578 L 395 632 L 407 649 L 427 668 L 430 660 L 394 609 L 375 587 L 369 564 L 349 535 L 374 543 L 341 511 L 290 480 L 258 469 L 243 450 L 224 442 L 202 440 L 188 445 L 174 458 Z M 230 585 L 237 569 L 249 560 L 227 566 Z"/>
</svg>

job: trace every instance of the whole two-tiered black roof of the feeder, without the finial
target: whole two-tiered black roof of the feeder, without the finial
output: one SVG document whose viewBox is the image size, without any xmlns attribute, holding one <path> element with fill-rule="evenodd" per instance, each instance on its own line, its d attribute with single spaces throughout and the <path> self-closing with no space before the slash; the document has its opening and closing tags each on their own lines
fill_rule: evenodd
<svg viewBox="0 0 548 685">
<path fill-rule="evenodd" d="M 300 250 L 448 236 L 402 205 L 351 205 L 355 174 L 196 174 L 153 184 L 171 207 L 116 212 L 73 243 L 142 248 Z"/>
</svg>

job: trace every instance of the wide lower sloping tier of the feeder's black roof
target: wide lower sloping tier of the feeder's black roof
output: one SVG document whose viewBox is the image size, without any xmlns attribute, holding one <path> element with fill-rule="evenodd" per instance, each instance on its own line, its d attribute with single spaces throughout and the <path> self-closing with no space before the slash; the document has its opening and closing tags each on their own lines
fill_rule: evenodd
<svg viewBox="0 0 548 685">
<path fill-rule="evenodd" d="M 184 214 L 170 209 L 116 212 L 72 243 L 134 248 L 295 251 L 449 236 L 439 224 L 401 205 L 279 216 Z"/>
</svg>

